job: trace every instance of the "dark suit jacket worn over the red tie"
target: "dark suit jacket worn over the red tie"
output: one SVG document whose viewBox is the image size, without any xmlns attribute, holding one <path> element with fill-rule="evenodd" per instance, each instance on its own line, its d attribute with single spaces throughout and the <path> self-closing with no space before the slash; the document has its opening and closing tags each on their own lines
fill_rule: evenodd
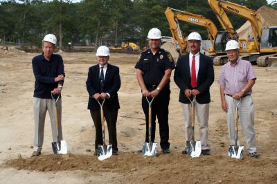
<svg viewBox="0 0 277 184">
<path fill-rule="evenodd" d="M 188 104 L 190 101 L 186 98 L 184 91 L 192 89 L 190 85 L 190 59 L 189 54 L 183 55 L 178 59 L 174 73 L 174 81 L 180 89 L 179 102 Z M 213 71 L 213 60 L 211 57 L 199 55 L 199 71 L 197 75 L 197 90 L 200 92 L 196 100 L 199 104 L 207 104 L 211 102 L 210 86 L 215 80 Z"/>
</svg>

